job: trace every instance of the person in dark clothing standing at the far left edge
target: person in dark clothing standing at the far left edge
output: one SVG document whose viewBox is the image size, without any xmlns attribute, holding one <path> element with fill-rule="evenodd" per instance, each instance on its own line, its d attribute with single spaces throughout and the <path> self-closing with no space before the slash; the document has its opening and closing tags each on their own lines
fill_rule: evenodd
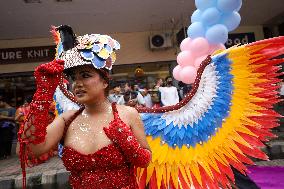
<svg viewBox="0 0 284 189">
<path fill-rule="evenodd" d="M 0 159 L 6 159 L 11 156 L 12 142 L 15 135 L 15 112 L 0 96 Z"/>
</svg>

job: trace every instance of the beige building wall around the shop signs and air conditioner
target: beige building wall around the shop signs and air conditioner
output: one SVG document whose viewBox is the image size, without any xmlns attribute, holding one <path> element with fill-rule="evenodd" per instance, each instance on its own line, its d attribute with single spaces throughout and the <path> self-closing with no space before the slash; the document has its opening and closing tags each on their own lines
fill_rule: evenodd
<svg viewBox="0 0 284 189">
<path fill-rule="evenodd" d="M 239 27 L 234 33 L 254 32 L 256 40 L 263 39 L 262 26 Z M 111 34 L 121 44 L 116 64 L 133 64 L 145 62 L 171 61 L 176 59 L 178 48 L 162 51 L 149 50 L 150 32 Z M 52 38 L 0 40 L 1 48 L 32 47 L 52 45 Z M 0 73 L 33 71 L 42 62 L 0 65 Z"/>
</svg>

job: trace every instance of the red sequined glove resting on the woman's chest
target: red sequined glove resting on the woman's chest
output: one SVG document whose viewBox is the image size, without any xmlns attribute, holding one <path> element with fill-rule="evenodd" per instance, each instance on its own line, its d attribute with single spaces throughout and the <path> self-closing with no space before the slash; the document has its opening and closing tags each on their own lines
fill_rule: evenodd
<svg viewBox="0 0 284 189">
<path fill-rule="evenodd" d="M 106 135 L 117 144 L 124 155 L 134 165 L 147 167 L 151 161 L 151 151 L 140 146 L 131 129 L 122 121 L 104 128 Z"/>
</svg>

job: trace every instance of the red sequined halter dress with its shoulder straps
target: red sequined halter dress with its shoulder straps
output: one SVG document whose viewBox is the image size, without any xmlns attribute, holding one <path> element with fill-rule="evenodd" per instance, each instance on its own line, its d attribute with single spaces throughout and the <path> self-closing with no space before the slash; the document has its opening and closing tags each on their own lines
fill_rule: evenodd
<svg viewBox="0 0 284 189">
<path fill-rule="evenodd" d="M 114 120 L 112 124 L 124 124 L 116 105 L 112 105 Z M 65 133 L 70 123 L 83 111 L 79 110 L 66 123 Z M 74 189 L 136 189 L 138 188 L 134 166 L 127 161 L 120 147 L 112 143 L 93 154 L 81 154 L 65 146 L 63 163 L 70 171 L 70 184 Z"/>
</svg>

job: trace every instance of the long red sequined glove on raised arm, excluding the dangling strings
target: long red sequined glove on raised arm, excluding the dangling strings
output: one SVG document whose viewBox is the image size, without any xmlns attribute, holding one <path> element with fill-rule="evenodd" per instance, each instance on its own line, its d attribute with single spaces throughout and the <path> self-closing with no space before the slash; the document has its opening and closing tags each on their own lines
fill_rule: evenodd
<svg viewBox="0 0 284 189">
<path fill-rule="evenodd" d="M 53 102 L 53 95 L 56 87 L 60 82 L 60 77 L 64 69 L 63 60 L 54 60 L 52 62 L 39 65 L 35 69 L 35 79 L 37 90 L 33 100 L 30 103 L 30 111 L 25 120 L 20 134 L 22 139 L 28 139 L 27 142 L 39 144 L 44 141 L 46 127 L 50 123 L 48 111 Z M 31 129 L 31 126 L 34 129 Z M 24 128 L 25 127 L 25 128 Z M 27 136 L 26 132 L 30 131 L 31 135 Z"/>
</svg>

